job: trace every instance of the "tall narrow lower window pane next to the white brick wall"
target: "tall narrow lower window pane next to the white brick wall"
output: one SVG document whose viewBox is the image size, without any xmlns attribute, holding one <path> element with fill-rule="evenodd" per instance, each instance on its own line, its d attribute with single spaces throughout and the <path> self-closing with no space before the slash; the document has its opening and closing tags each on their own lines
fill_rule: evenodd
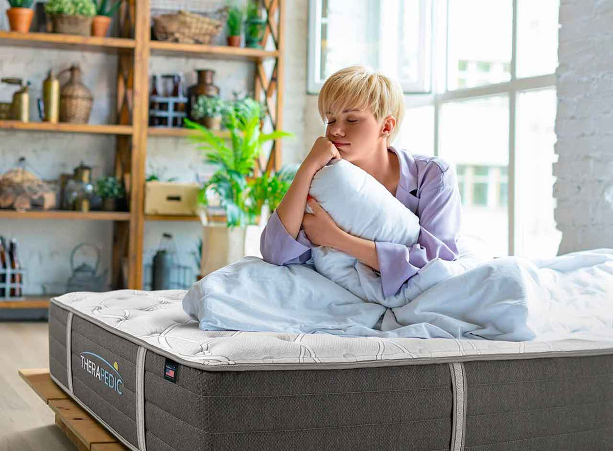
<svg viewBox="0 0 613 451">
<path fill-rule="evenodd" d="M 516 254 L 555 256 L 562 232 L 555 228 L 552 164 L 557 108 L 555 89 L 517 96 L 516 117 Z"/>
</svg>

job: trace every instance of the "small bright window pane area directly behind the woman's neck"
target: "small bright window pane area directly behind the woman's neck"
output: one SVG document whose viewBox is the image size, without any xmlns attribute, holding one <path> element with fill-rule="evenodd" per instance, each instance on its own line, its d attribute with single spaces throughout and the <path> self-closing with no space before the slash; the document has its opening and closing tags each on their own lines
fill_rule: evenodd
<svg viewBox="0 0 613 451">
<path fill-rule="evenodd" d="M 406 148 L 411 153 L 434 155 L 434 107 L 407 108 L 392 145 Z"/>
</svg>

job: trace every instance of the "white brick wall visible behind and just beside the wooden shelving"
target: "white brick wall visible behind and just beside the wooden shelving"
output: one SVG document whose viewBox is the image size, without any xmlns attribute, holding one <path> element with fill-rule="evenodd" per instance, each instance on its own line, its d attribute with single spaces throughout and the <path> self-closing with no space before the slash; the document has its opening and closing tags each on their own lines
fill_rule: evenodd
<svg viewBox="0 0 613 451">
<path fill-rule="evenodd" d="M 215 4 L 207 0 L 210 4 Z M 223 2 L 217 2 L 223 4 Z M 286 2 L 285 87 L 283 129 L 295 134 L 283 145 L 283 161 L 297 163 L 310 145 L 305 139 L 305 104 L 307 87 L 307 0 Z M 0 6 L 0 27 L 7 29 L 6 14 Z M 218 37 L 223 42 L 224 35 Z M 47 50 L 31 47 L 0 46 L 0 76 L 25 76 L 32 82 L 31 120 L 37 120 L 34 100 L 40 97 L 42 80 L 47 71 L 59 71 L 78 62 L 83 82 L 95 95 L 89 123 L 109 123 L 115 118 L 116 56 L 106 53 Z M 164 58 L 152 56 L 150 71 L 185 72 L 188 85 L 195 82 L 194 68 L 211 67 L 217 71 L 216 84 L 221 95 L 230 98 L 233 90 L 252 90 L 254 64 L 244 61 L 205 60 L 196 58 Z M 66 79 L 63 80 L 63 83 Z M 0 101 L 10 101 L 14 89 L 0 86 Z M 314 140 L 314 138 L 313 138 Z M 312 141 L 311 140 L 311 143 Z M 308 148 L 307 148 L 308 145 Z M 305 150 L 306 149 L 306 150 Z M 94 178 L 113 171 L 115 137 L 86 134 L 29 133 L 0 131 L 0 173 L 7 171 L 20 156 L 25 156 L 44 179 L 57 179 L 63 172 L 72 172 L 80 161 L 93 166 Z M 151 137 L 147 148 L 147 173 L 160 171 L 163 177 L 178 177 L 193 181 L 197 173 L 210 174 L 201 163 L 195 148 L 186 139 Z M 196 250 L 201 228 L 198 223 L 148 222 L 145 224 L 144 263 L 164 232 L 173 233 L 180 250 L 181 263 L 193 264 L 191 252 Z M 21 261 L 28 268 L 26 294 L 44 290 L 58 293 L 70 276 L 70 250 L 86 241 L 103 250 L 101 268 L 109 268 L 112 244 L 112 224 L 108 222 L 57 220 L 0 220 L 0 234 L 15 237 L 20 242 Z"/>
</svg>

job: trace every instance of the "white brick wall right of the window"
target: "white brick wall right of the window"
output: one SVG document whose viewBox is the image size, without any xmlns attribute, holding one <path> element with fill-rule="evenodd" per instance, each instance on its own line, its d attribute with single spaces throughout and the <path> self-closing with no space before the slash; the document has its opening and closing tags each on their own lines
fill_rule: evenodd
<svg viewBox="0 0 613 451">
<path fill-rule="evenodd" d="M 613 1 L 560 3 L 554 196 L 563 254 L 613 247 Z"/>
</svg>

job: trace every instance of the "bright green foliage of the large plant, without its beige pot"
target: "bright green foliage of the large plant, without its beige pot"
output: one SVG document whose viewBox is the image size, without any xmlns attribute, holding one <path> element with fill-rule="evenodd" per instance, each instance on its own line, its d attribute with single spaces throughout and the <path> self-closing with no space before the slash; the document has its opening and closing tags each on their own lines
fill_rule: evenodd
<svg viewBox="0 0 613 451">
<path fill-rule="evenodd" d="M 198 144 L 199 150 L 204 153 L 205 161 L 218 168 L 202 185 L 198 201 L 207 205 L 209 192 L 218 195 L 221 207 L 226 210 L 229 227 L 254 224 L 256 216 L 261 214 L 262 205 L 269 202 L 269 198 L 264 200 L 262 195 L 268 195 L 273 191 L 272 188 L 270 190 L 267 188 L 270 185 L 270 174 L 253 176 L 262 144 L 293 136 L 280 130 L 268 134 L 262 133 L 261 110 L 261 104 L 251 98 L 236 101 L 226 109 L 223 121 L 230 132 L 230 146 L 204 126 L 190 120 L 185 121 L 188 128 L 198 132 L 190 139 Z M 264 180 L 258 180 L 262 177 Z"/>
</svg>

